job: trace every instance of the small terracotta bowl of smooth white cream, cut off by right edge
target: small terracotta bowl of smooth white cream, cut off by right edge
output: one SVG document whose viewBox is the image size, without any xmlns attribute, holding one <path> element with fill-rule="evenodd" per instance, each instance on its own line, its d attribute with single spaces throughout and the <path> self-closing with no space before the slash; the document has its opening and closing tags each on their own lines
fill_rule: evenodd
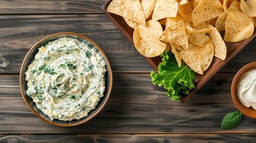
<svg viewBox="0 0 256 143">
<path fill-rule="evenodd" d="M 256 62 L 246 64 L 236 73 L 231 96 L 242 114 L 256 119 Z"/>
</svg>

